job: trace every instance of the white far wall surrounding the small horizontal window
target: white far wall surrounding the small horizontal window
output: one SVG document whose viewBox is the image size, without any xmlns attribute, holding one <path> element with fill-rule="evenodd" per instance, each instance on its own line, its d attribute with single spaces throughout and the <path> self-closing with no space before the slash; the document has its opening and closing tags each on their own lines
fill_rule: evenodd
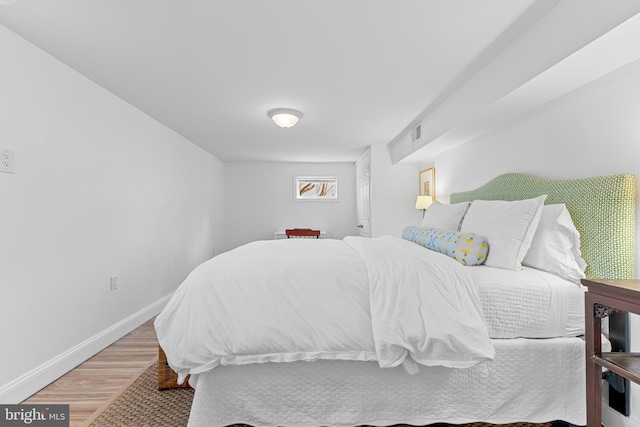
<svg viewBox="0 0 640 427">
<path fill-rule="evenodd" d="M 285 228 L 315 228 L 327 238 L 357 234 L 355 163 L 225 163 L 223 250 L 273 239 Z M 296 176 L 337 176 L 338 200 L 295 200 Z"/>
</svg>

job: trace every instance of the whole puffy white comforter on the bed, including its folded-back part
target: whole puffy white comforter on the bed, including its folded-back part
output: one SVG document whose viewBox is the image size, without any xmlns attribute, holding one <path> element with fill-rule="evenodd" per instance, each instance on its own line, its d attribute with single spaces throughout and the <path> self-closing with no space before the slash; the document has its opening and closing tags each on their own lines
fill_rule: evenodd
<svg viewBox="0 0 640 427">
<path fill-rule="evenodd" d="M 462 368 L 495 354 L 465 267 L 390 236 L 241 246 L 197 267 L 155 327 L 180 381 L 220 364 Z"/>
</svg>

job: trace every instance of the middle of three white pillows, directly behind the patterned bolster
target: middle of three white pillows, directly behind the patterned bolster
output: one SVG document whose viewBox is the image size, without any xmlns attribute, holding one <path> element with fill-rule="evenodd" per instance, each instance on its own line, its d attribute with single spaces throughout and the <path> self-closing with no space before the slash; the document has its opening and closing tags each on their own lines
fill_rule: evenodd
<svg viewBox="0 0 640 427">
<path fill-rule="evenodd" d="M 485 265 L 517 270 L 531 246 L 546 198 L 545 194 L 514 202 L 475 200 L 460 230 L 487 238 L 489 254 Z"/>
</svg>

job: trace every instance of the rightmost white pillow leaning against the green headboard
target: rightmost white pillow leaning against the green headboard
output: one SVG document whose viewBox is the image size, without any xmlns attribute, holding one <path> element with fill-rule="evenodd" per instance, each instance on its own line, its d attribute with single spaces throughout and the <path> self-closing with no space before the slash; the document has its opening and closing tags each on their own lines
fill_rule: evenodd
<svg viewBox="0 0 640 427">
<path fill-rule="evenodd" d="M 538 229 L 522 264 L 577 284 L 585 278 L 587 263 L 580 253 L 580 233 L 565 205 L 542 207 Z"/>
</svg>

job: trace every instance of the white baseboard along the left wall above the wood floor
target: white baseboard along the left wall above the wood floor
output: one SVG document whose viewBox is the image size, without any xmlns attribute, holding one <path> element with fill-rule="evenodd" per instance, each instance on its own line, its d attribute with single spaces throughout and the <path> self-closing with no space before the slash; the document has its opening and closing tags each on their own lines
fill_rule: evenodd
<svg viewBox="0 0 640 427">
<path fill-rule="evenodd" d="M 0 403 L 17 404 L 156 316 L 172 294 L 0 387 Z"/>
</svg>

